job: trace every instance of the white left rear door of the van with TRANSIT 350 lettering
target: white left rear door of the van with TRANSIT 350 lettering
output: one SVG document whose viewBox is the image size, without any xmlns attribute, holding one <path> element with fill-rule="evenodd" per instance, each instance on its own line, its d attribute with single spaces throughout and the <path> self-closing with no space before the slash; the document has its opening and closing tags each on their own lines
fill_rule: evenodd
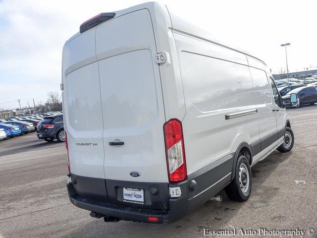
<svg viewBox="0 0 317 238">
<path fill-rule="evenodd" d="M 71 173 L 105 179 L 95 32 L 91 29 L 67 42 L 63 48 L 64 128 Z"/>
</svg>

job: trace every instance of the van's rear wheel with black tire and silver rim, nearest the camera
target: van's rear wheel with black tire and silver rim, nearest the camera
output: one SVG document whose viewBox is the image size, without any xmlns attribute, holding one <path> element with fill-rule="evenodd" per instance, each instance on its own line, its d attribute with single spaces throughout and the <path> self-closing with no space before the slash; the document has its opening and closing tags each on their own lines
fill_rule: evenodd
<svg viewBox="0 0 317 238">
<path fill-rule="evenodd" d="M 243 166 L 243 169 L 241 170 L 241 166 Z M 245 180 L 248 173 L 248 181 Z M 240 176 L 241 175 L 241 176 Z M 241 180 L 244 182 L 246 181 L 246 184 L 249 183 L 249 186 L 247 185 L 244 186 L 243 188 L 241 187 Z M 227 193 L 227 196 L 234 201 L 239 201 L 239 202 L 244 202 L 248 200 L 251 194 L 251 189 L 252 189 L 252 174 L 251 174 L 251 168 L 249 165 L 249 160 L 247 157 L 244 155 L 239 156 L 237 165 L 236 165 L 236 171 L 235 171 L 235 176 L 231 183 L 225 188 L 225 191 Z M 244 191 L 243 191 L 244 190 Z"/>
</svg>

